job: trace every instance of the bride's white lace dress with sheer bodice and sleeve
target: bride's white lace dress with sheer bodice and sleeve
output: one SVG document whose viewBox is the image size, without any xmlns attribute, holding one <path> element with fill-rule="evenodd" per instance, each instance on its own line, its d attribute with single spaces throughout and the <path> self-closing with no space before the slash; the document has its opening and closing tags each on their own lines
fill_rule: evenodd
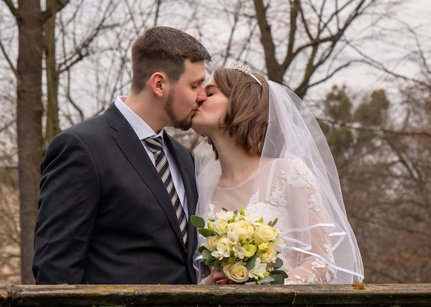
<svg viewBox="0 0 431 307">
<path fill-rule="evenodd" d="M 231 188 L 215 187 L 207 217 L 222 208 L 277 218 L 286 246 L 279 257 L 285 284 L 326 284 L 335 279 L 333 247 L 315 177 L 300 159 L 267 160 L 264 167 Z M 202 204 L 200 204 L 202 205 Z M 200 276 L 202 278 L 202 276 Z"/>
</svg>

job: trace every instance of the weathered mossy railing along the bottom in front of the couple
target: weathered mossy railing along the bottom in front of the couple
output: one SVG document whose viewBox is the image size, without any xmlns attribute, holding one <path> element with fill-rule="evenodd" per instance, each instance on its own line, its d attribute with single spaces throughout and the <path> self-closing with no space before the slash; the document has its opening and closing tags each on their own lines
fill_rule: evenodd
<svg viewBox="0 0 431 307">
<path fill-rule="evenodd" d="M 431 284 L 0 285 L 0 306 L 431 306 Z"/>
</svg>

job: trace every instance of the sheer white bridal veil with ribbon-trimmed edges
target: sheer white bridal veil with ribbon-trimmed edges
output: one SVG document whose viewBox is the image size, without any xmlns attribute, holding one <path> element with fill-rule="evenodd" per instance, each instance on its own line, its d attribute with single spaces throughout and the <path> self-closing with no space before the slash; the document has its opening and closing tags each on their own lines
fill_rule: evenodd
<svg viewBox="0 0 431 307">
<path fill-rule="evenodd" d="M 322 261 L 337 271 L 337 277 L 331 283 L 351 284 L 361 281 L 364 279 L 361 254 L 355 234 L 347 220 L 337 168 L 326 138 L 315 117 L 293 91 L 276 82 L 268 81 L 268 83 L 269 126 L 260 163 L 262 174 L 271 159 L 302 161 L 311 172 L 312 182 L 319 194 L 320 207 L 322 207 L 319 211 L 324 216 L 317 223 L 307 218 L 307 214 L 300 214 L 304 212 L 301 211 L 303 209 L 298 211 L 293 204 L 287 203 L 285 210 L 282 211 L 286 216 L 280 219 L 281 227 L 284 227 L 280 229 L 286 243 L 284 249 L 304 256 L 318 257 L 319 255 L 311 251 L 312 243 L 309 237 L 312 229 L 324 226 L 330 239 L 333 261 L 327 261 L 324 258 Z M 196 214 L 204 217 L 211 214 L 209 204 L 212 202 L 220 177 L 220 163 L 214 159 L 213 150 L 206 141 L 202 141 L 196 148 L 195 157 L 199 192 Z M 256 174 L 260 174 L 261 170 Z M 254 179 L 256 190 L 261 189 L 262 178 L 268 180 L 271 177 L 256 175 Z M 295 191 L 295 189 L 291 190 Z M 289 197 L 289 199 L 295 199 L 295 197 Z"/>
</svg>

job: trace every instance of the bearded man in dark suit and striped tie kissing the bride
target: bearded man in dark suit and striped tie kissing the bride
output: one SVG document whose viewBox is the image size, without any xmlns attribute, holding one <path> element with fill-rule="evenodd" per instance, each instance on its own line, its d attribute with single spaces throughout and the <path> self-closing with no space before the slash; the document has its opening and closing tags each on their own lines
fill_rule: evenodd
<svg viewBox="0 0 431 307">
<path fill-rule="evenodd" d="M 190 128 L 207 99 L 209 60 L 189 34 L 150 28 L 132 47 L 128 97 L 52 140 L 41 165 L 36 284 L 196 284 L 193 157 L 163 127 Z"/>
</svg>

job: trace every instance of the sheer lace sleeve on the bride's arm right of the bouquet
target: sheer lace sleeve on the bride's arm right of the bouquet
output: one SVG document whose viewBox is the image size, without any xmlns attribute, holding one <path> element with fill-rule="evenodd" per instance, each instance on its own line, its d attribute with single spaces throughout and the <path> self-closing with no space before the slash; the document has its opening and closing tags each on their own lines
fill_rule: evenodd
<svg viewBox="0 0 431 307">
<path fill-rule="evenodd" d="M 335 279 L 336 270 L 315 177 L 299 159 L 288 164 L 286 172 L 281 168 L 282 182 L 278 183 L 284 185 L 291 225 L 286 235 L 288 250 L 280 255 L 288 273 L 285 284 L 326 284 Z M 302 242 L 302 246 L 292 242 Z"/>
</svg>

